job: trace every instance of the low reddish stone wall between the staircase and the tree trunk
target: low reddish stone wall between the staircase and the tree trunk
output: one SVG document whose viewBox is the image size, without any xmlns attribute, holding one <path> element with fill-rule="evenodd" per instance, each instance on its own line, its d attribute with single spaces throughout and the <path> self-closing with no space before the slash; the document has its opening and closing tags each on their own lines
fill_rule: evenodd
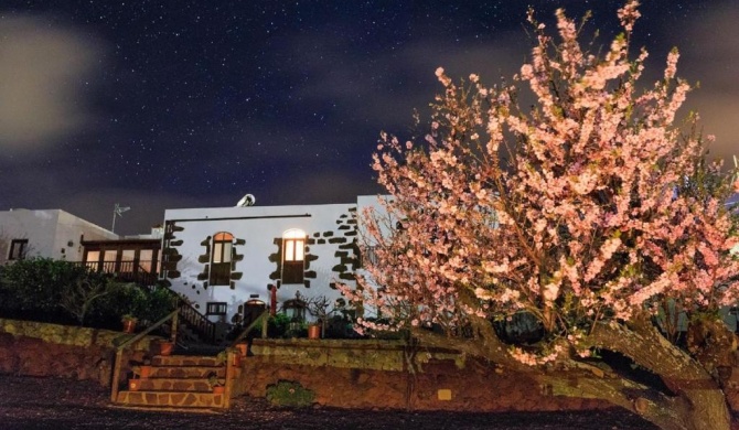
<svg viewBox="0 0 739 430">
<path fill-rule="evenodd" d="M 266 395 L 279 380 L 342 408 L 504 411 L 597 409 L 612 405 L 551 396 L 516 373 L 442 348 L 406 350 L 396 341 L 255 340 L 236 393 Z M 413 357 L 411 357 L 413 355 Z M 411 365 L 413 363 L 413 365 Z M 480 381 L 484 380 L 484 384 Z"/>
</svg>

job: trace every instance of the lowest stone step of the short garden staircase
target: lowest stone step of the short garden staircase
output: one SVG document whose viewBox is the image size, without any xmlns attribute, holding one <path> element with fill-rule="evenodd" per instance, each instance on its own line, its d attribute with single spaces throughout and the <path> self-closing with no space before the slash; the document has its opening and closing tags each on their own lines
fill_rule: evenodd
<svg viewBox="0 0 739 430">
<path fill-rule="evenodd" d="M 225 395 L 188 391 L 119 391 L 117 404 L 172 408 L 223 408 Z"/>
</svg>

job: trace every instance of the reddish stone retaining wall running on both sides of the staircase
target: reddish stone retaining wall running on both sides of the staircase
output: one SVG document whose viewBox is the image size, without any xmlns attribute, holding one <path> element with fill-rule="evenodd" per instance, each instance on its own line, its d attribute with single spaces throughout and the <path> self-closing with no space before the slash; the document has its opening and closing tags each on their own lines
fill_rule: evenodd
<svg viewBox="0 0 739 430">
<path fill-rule="evenodd" d="M 0 319 L 0 373 L 92 379 L 109 386 L 114 345 L 128 336 Z M 127 351 L 121 379 L 131 362 L 143 359 L 156 338 L 147 336 Z M 235 394 L 264 397 L 269 385 L 293 380 L 313 390 L 319 405 L 344 408 L 502 411 L 610 407 L 599 400 L 553 396 L 521 374 L 464 359 L 449 350 L 420 348 L 410 354 L 397 341 L 256 340 L 250 352 Z M 736 411 L 739 367 L 729 370 L 725 375 L 727 399 Z"/>
</svg>

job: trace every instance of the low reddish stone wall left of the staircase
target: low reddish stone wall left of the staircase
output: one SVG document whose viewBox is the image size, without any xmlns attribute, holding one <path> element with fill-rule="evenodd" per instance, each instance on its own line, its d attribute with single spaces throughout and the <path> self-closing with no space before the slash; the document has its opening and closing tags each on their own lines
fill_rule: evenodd
<svg viewBox="0 0 739 430">
<path fill-rule="evenodd" d="M 110 386 L 117 343 L 131 336 L 109 330 L 0 319 L 0 373 L 97 380 Z M 141 362 L 157 337 L 146 336 L 124 354 L 122 372 Z"/>
</svg>

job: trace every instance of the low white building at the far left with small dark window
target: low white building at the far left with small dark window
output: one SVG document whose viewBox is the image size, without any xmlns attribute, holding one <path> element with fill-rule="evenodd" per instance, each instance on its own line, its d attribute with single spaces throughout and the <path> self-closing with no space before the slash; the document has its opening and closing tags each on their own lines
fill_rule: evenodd
<svg viewBox="0 0 739 430">
<path fill-rule="evenodd" d="M 82 261 L 84 240 L 115 239 L 115 233 L 62 209 L 0 212 L 0 265 L 36 256 Z"/>
</svg>

